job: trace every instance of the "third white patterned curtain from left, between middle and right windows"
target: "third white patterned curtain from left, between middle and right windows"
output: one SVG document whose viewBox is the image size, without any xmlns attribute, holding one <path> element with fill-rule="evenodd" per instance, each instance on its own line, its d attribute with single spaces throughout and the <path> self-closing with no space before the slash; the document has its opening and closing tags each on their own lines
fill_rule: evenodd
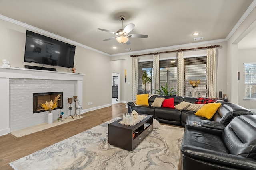
<svg viewBox="0 0 256 170">
<path fill-rule="evenodd" d="M 183 76 L 184 76 L 184 59 L 183 51 L 178 51 L 178 82 L 177 82 L 177 96 L 183 96 Z"/>
</svg>

